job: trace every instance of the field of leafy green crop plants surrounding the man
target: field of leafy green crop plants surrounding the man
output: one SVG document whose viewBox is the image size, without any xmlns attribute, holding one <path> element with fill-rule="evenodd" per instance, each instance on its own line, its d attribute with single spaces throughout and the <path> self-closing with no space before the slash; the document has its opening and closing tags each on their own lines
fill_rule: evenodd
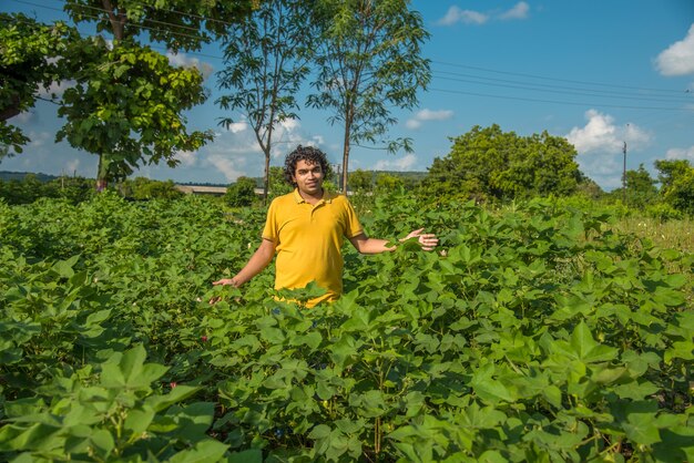
<svg viewBox="0 0 694 463">
<path fill-rule="evenodd" d="M 0 203 L 0 460 L 694 461 L 691 223 L 406 196 L 361 218 L 440 249 L 346 247 L 346 294 L 307 310 L 272 266 L 211 285 L 263 208 Z"/>
</svg>

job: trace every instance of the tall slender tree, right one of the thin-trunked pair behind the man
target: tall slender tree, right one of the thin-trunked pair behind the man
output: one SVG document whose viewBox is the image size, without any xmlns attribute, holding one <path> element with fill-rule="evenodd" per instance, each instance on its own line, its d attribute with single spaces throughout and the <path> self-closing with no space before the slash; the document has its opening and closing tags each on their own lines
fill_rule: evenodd
<svg viewBox="0 0 694 463">
<path fill-rule="evenodd" d="M 431 78 L 421 45 L 429 38 L 421 14 L 408 0 L 323 0 L 323 25 L 312 107 L 328 109 L 330 124 L 343 125 L 343 187 L 347 191 L 351 143 L 384 140 L 397 122 L 390 107 L 411 109 Z M 411 151 L 409 140 L 388 141 L 387 150 Z"/>
</svg>

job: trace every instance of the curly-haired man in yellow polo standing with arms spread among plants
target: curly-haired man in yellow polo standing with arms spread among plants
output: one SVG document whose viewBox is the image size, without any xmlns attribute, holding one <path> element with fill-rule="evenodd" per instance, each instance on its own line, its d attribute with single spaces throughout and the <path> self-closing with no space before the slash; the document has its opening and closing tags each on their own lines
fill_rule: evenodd
<svg viewBox="0 0 694 463">
<path fill-rule="evenodd" d="M 272 202 L 263 241 L 244 268 L 233 278 L 213 285 L 239 287 L 259 274 L 277 254 L 275 289 L 304 288 L 316 281 L 327 292 L 307 302 L 307 307 L 313 307 L 324 300 L 336 300 L 343 292 L 344 238 L 361 254 L 396 249 L 385 239 L 366 236 L 346 196 L 323 189 L 327 169 L 325 153 L 315 147 L 298 146 L 287 155 L 284 174 L 294 185 L 294 192 Z M 423 250 L 433 249 L 438 238 L 422 230 L 415 230 L 405 239 L 417 237 Z"/>
</svg>

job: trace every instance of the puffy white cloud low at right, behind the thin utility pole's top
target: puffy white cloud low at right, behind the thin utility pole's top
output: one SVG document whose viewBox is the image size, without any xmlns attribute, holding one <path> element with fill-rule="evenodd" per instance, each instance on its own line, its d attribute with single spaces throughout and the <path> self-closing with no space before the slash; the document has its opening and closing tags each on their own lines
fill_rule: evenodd
<svg viewBox="0 0 694 463">
<path fill-rule="evenodd" d="M 639 126 L 618 126 L 614 117 L 596 110 L 586 111 L 585 119 L 585 126 L 573 127 L 567 135 L 567 140 L 575 146 L 579 154 L 619 153 L 624 142 L 630 148 L 640 148 L 651 141 L 651 135 Z"/>
</svg>

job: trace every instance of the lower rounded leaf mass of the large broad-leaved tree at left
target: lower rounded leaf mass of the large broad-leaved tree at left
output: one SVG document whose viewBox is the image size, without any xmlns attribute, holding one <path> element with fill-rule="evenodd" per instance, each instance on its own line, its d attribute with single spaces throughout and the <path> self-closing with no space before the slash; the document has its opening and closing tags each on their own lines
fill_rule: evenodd
<svg viewBox="0 0 694 463">
<path fill-rule="evenodd" d="M 130 40 L 109 49 L 95 39 L 79 54 L 75 84 L 58 110 L 67 117 L 57 140 L 99 155 L 98 188 L 123 179 L 142 163 L 170 166 L 178 151 L 195 151 L 212 140 L 208 132 L 187 133 L 182 115 L 206 99 L 195 69 L 174 68 L 166 56 Z"/>
</svg>

